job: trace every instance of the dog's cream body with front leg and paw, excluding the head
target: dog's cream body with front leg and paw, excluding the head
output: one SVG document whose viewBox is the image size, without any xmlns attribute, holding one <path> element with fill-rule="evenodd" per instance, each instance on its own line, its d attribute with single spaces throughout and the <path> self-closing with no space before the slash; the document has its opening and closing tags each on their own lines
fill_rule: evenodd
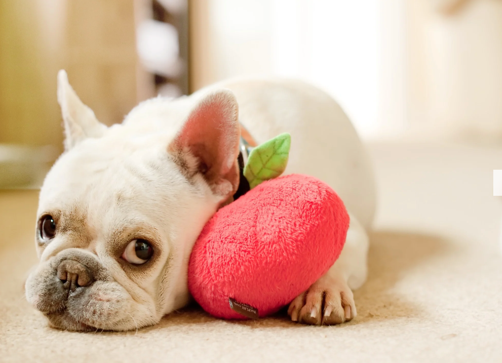
<svg viewBox="0 0 502 363">
<path fill-rule="evenodd" d="M 338 193 L 349 211 L 350 228 L 339 259 L 327 276 L 310 289 L 311 296 L 300 296 L 293 302 L 297 316 L 292 317 L 300 319 L 308 311 L 315 315 L 310 322 L 323 321 L 320 310 L 326 291 L 332 291 L 332 296 L 340 292 L 344 295 L 341 299 L 350 300 L 346 303 L 352 307 L 351 317 L 355 316 L 352 293 L 347 286 L 357 289 L 366 280 L 369 247 L 366 231 L 371 228 L 375 212 L 375 183 L 370 160 L 352 123 L 333 98 L 304 82 L 241 79 L 209 88 L 212 87 L 228 88 L 234 93 L 239 104 L 239 121 L 259 144 L 289 132 L 292 146 L 285 174 L 308 174 L 323 180 Z M 326 301 L 326 306 L 333 304 L 337 312 L 335 305 L 340 301 L 338 297 L 333 299 Z M 300 312 L 303 306 L 304 311 Z M 295 313 L 293 306 L 289 313 Z M 336 316 L 332 318 L 331 322 L 338 321 Z"/>
</svg>

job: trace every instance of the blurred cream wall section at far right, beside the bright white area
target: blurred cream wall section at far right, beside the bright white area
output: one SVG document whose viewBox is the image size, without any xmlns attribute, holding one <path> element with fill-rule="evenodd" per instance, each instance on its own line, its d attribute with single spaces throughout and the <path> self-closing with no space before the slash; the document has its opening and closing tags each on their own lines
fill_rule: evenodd
<svg viewBox="0 0 502 363">
<path fill-rule="evenodd" d="M 502 140 L 502 2 L 408 0 L 410 128 L 432 137 Z M 433 2 L 434 3 L 434 2 Z"/>
</svg>

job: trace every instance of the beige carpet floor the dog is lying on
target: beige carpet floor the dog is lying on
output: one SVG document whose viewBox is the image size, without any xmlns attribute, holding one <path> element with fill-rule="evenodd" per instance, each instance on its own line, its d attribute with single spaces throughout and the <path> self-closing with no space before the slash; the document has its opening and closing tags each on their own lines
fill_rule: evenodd
<svg viewBox="0 0 502 363">
<path fill-rule="evenodd" d="M 36 191 L 0 192 L 1 362 L 500 362 L 502 149 L 370 147 L 380 206 L 357 317 L 304 326 L 277 316 L 214 319 L 196 307 L 138 332 L 47 327 L 23 296 L 35 263 Z"/>
</svg>

